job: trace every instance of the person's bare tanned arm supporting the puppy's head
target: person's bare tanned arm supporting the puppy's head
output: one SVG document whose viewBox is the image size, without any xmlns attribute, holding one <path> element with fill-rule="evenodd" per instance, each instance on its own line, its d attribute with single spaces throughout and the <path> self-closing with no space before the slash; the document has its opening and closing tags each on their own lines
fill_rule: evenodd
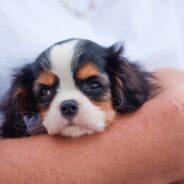
<svg viewBox="0 0 184 184">
<path fill-rule="evenodd" d="M 184 72 L 168 68 L 155 75 L 158 94 L 103 133 L 1 140 L 0 183 L 176 184 L 184 179 Z"/>
</svg>

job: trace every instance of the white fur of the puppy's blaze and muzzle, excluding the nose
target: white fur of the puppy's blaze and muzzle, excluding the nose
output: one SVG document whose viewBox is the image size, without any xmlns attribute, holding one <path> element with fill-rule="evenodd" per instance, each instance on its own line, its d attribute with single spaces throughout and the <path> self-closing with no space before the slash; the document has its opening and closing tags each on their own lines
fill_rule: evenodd
<svg viewBox="0 0 184 184">
<path fill-rule="evenodd" d="M 76 137 L 102 131 L 105 128 L 105 112 L 95 106 L 79 89 L 75 87 L 71 70 L 74 47 L 77 41 L 57 45 L 51 50 L 52 72 L 59 78 L 60 86 L 43 124 L 49 134 L 61 134 Z M 60 104 L 64 100 L 74 99 L 79 104 L 79 111 L 72 120 L 62 117 Z"/>
</svg>

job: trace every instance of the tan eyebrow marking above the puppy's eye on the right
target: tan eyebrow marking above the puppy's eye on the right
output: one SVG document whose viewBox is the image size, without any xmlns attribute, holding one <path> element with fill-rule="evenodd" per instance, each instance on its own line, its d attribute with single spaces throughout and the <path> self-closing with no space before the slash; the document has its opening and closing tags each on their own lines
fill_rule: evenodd
<svg viewBox="0 0 184 184">
<path fill-rule="evenodd" d="M 78 79 L 86 79 L 88 77 L 99 74 L 100 71 L 98 68 L 94 64 L 88 63 L 79 68 L 76 75 Z"/>
</svg>

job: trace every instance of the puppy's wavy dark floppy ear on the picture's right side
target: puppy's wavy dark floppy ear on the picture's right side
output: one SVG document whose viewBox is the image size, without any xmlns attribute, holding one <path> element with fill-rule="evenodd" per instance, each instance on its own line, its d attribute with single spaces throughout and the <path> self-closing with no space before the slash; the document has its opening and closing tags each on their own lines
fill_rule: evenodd
<svg viewBox="0 0 184 184">
<path fill-rule="evenodd" d="M 152 75 L 123 57 L 122 45 L 113 45 L 107 53 L 113 105 L 118 112 L 134 111 L 148 99 L 153 89 L 149 80 Z"/>
</svg>

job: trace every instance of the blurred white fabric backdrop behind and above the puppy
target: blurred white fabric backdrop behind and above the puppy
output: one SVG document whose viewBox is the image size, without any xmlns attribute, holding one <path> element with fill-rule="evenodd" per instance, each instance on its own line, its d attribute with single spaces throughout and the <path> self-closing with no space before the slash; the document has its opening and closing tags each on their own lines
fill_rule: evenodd
<svg viewBox="0 0 184 184">
<path fill-rule="evenodd" d="M 0 6 L 0 97 L 12 68 L 55 42 L 122 42 L 144 68 L 184 68 L 183 0 L 4 0 Z"/>
</svg>

